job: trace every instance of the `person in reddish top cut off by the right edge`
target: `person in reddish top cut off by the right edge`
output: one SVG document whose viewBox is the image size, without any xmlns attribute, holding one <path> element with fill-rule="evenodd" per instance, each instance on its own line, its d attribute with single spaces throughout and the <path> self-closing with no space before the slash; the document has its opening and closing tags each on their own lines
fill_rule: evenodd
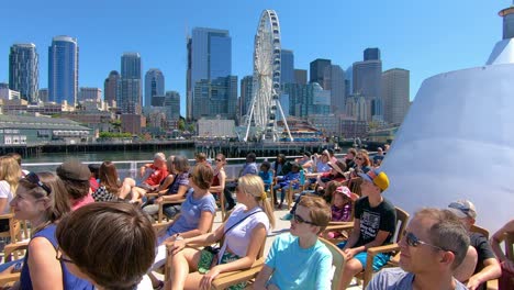
<svg viewBox="0 0 514 290">
<path fill-rule="evenodd" d="M 491 246 L 496 254 L 502 266 L 502 276 L 499 279 L 499 290 L 514 289 L 514 260 L 509 259 L 500 247 L 500 243 L 505 239 L 506 234 L 514 233 L 514 220 L 510 221 L 491 237 Z"/>
</svg>

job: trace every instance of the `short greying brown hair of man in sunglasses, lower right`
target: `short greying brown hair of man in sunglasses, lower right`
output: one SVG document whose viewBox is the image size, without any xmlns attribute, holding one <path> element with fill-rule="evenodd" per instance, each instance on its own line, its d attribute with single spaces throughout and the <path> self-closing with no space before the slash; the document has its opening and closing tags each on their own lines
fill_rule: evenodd
<svg viewBox="0 0 514 290">
<path fill-rule="evenodd" d="M 449 210 L 439 209 L 422 209 L 414 217 L 435 221 L 431 228 L 426 228 L 429 236 L 427 243 L 454 253 L 451 269 L 457 268 L 465 259 L 470 244 L 468 231 L 459 217 Z"/>
</svg>

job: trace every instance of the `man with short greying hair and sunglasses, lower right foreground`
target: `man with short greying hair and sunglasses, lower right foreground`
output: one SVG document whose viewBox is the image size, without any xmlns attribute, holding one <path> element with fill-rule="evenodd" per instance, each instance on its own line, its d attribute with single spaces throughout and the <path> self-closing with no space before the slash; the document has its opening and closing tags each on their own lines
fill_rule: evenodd
<svg viewBox="0 0 514 290">
<path fill-rule="evenodd" d="M 469 237 L 450 211 L 424 209 L 416 212 L 399 246 L 401 268 L 376 274 L 367 289 L 467 289 L 452 276 L 466 257 Z"/>
</svg>

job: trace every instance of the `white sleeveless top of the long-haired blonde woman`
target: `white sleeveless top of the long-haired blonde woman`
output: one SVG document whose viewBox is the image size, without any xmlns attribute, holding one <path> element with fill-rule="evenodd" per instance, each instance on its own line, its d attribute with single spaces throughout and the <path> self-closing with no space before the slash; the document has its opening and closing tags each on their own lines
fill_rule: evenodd
<svg viewBox="0 0 514 290">
<path fill-rule="evenodd" d="M 269 231 L 269 219 L 268 215 L 259 207 L 254 208 L 252 211 L 245 212 L 246 207 L 244 204 L 237 204 L 237 207 L 232 212 L 231 216 L 225 224 L 225 242 L 221 248 L 221 255 L 219 257 L 219 263 L 225 253 L 226 247 L 232 250 L 235 255 L 239 257 L 246 256 L 246 250 L 250 242 L 252 231 L 258 224 L 262 224 L 266 228 L 266 233 Z M 253 214 L 254 212 L 257 212 Z M 246 216 L 250 215 L 245 219 Z M 243 222 L 238 223 L 245 219 Z M 238 223 L 236 226 L 232 227 L 234 224 Z M 226 232 L 226 230 L 231 231 Z"/>
</svg>

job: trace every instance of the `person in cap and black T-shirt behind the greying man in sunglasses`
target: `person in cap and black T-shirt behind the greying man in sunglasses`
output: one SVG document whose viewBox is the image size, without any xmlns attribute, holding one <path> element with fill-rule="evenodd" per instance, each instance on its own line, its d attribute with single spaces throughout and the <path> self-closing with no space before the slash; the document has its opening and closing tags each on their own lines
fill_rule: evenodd
<svg viewBox="0 0 514 290">
<path fill-rule="evenodd" d="M 474 224 L 474 220 L 477 219 L 477 210 L 473 203 L 469 200 L 458 200 L 454 201 L 448 205 L 448 210 L 450 210 L 455 215 L 457 215 L 460 221 L 463 223 L 466 228 L 469 232 L 471 225 Z M 485 290 L 485 282 L 488 280 L 496 279 L 502 274 L 500 264 L 496 260 L 496 256 L 494 255 L 491 245 L 488 242 L 488 238 L 480 233 L 469 233 L 469 238 L 471 239 L 470 246 L 472 246 L 478 256 L 477 264 L 469 265 L 468 259 L 457 267 L 456 274 L 460 272 L 461 269 L 465 268 L 474 268 L 471 277 L 467 279 L 465 282 L 468 289 L 474 290 Z M 468 254 L 470 255 L 470 254 Z M 471 254 L 472 255 L 472 254 Z M 456 278 L 459 279 L 459 277 Z M 460 278 L 461 280 L 466 280 L 466 278 Z"/>
</svg>

